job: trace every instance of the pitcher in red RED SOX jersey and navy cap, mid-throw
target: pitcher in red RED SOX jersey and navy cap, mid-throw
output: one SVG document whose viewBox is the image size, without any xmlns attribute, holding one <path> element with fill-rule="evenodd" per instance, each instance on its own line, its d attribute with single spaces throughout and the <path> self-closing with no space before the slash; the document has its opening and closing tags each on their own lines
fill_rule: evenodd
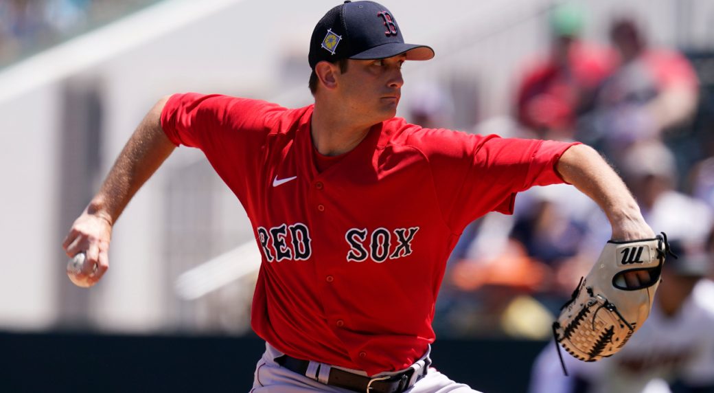
<svg viewBox="0 0 714 393">
<path fill-rule="evenodd" d="M 468 223 L 511 214 L 531 186 L 568 182 L 603 209 L 613 239 L 654 233 L 588 146 L 395 117 L 402 65 L 433 54 L 405 44 L 381 4 L 346 2 L 312 34 L 314 104 L 159 100 L 74 222 L 66 254 L 86 252 L 83 275 L 98 282 L 131 197 L 176 146 L 196 147 L 245 207 L 262 254 L 251 324 L 266 352 L 253 392 L 471 392 L 429 367 L 436 295 Z M 638 286 L 640 277 L 626 279 Z"/>
</svg>

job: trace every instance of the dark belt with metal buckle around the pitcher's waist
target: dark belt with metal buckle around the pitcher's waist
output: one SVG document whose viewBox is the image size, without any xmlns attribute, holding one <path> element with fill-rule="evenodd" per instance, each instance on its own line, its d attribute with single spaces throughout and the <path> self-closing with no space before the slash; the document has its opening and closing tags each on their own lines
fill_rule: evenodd
<svg viewBox="0 0 714 393">
<path fill-rule="evenodd" d="M 276 357 L 276 363 L 280 364 L 286 369 L 296 372 L 298 374 L 305 375 L 308 371 L 308 365 L 310 364 L 307 360 L 295 359 L 294 357 L 289 357 L 288 355 L 283 355 L 281 357 Z M 421 379 L 426 375 L 427 369 L 431 362 L 427 358 L 425 360 L 424 367 L 419 370 L 421 375 L 416 377 L 414 382 Z M 316 372 L 319 374 L 319 370 Z M 343 389 L 352 390 L 353 392 L 362 393 L 401 393 L 406 389 L 409 389 L 412 384 L 409 381 L 414 374 L 414 369 L 409 368 L 398 374 L 393 374 L 385 377 L 365 377 L 359 374 L 353 374 L 351 372 L 346 372 L 335 367 L 331 367 L 330 375 L 327 379 L 327 384 L 335 387 L 341 387 Z"/>
</svg>

